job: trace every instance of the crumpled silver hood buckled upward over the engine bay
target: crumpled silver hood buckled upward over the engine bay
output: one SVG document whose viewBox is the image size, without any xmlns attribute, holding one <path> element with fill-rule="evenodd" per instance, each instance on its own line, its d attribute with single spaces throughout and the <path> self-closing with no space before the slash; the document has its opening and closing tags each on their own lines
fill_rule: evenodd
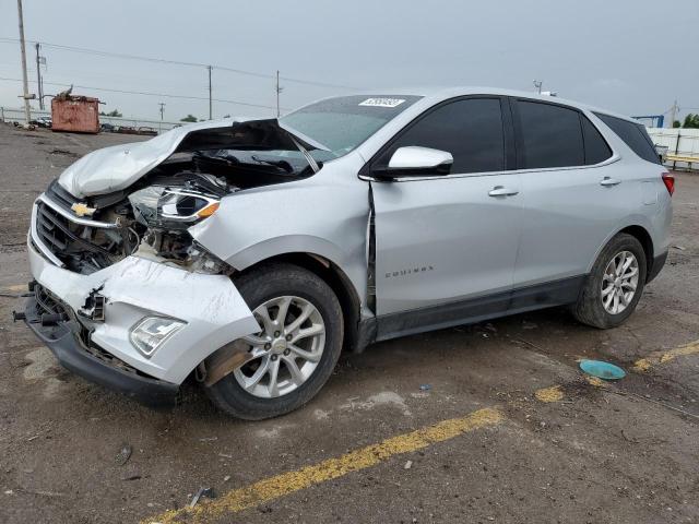
<svg viewBox="0 0 699 524">
<path fill-rule="evenodd" d="M 175 128 L 144 142 L 93 151 L 68 167 L 58 183 L 76 198 L 126 189 L 174 153 L 226 147 L 298 151 L 325 147 L 277 119 L 236 118 Z"/>
</svg>

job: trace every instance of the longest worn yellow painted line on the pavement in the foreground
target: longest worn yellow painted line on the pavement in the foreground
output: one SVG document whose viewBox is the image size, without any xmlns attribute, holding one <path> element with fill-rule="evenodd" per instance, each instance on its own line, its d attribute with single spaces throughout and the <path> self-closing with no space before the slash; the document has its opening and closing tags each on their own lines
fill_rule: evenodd
<svg viewBox="0 0 699 524">
<path fill-rule="evenodd" d="M 442 420 L 410 433 L 399 434 L 341 456 L 328 458 L 318 464 L 265 478 L 229 491 L 221 498 L 205 500 L 194 508 L 169 510 L 142 522 L 174 524 L 221 519 L 224 515 L 254 508 L 317 484 L 375 466 L 394 455 L 422 450 L 436 442 L 443 442 L 476 429 L 495 426 L 502 419 L 502 414 L 497 409 L 478 409 L 465 417 Z"/>
</svg>

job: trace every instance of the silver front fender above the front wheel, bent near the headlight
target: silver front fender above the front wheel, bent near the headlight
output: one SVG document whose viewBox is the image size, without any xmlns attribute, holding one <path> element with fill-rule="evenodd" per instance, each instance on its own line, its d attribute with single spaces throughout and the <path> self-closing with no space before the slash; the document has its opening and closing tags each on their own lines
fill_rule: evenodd
<svg viewBox="0 0 699 524">
<path fill-rule="evenodd" d="M 323 257 L 337 265 L 356 295 L 364 297 L 368 187 L 355 177 L 331 183 L 323 183 L 322 177 L 318 174 L 300 182 L 226 196 L 213 216 L 190 227 L 189 233 L 238 271 L 281 254 Z"/>
</svg>

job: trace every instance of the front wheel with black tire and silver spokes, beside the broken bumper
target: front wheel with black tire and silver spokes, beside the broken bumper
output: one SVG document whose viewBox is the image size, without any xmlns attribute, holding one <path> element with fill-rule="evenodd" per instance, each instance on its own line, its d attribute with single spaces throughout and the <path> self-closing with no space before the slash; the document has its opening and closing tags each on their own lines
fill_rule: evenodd
<svg viewBox="0 0 699 524">
<path fill-rule="evenodd" d="M 249 360 L 206 393 L 225 413 L 248 420 L 297 409 L 316 396 L 340 358 L 337 297 L 316 274 L 286 263 L 256 269 L 235 284 L 261 331 L 241 340 Z"/>
</svg>

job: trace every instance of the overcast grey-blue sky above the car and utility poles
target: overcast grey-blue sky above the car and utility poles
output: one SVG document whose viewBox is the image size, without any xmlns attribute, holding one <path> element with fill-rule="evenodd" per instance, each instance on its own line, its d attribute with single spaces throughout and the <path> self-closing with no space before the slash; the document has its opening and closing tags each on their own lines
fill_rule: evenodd
<svg viewBox="0 0 699 524">
<path fill-rule="evenodd" d="M 220 64 L 348 86 L 283 81 L 282 106 L 392 85 L 489 85 L 560 96 L 627 115 L 699 112 L 699 0 L 24 0 L 31 40 Z M 15 0 L 0 0 L 0 37 L 17 38 Z M 27 46 L 29 79 L 35 51 Z M 45 47 L 57 84 L 206 97 L 206 70 Z M 44 68 L 43 68 L 44 69 Z M 0 78 L 21 79 L 20 46 L 0 40 Z M 51 84 L 49 84 L 51 83 Z M 0 80 L 0 105 L 22 84 Z M 36 84 L 29 84 L 35 92 Z M 274 106 L 274 80 L 213 70 L 214 98 Z M 125 116 L 208 117 L 206 100 L 75 88 Z M 273 109 L 214 103 L 214 117 Z"/>
</svg>

